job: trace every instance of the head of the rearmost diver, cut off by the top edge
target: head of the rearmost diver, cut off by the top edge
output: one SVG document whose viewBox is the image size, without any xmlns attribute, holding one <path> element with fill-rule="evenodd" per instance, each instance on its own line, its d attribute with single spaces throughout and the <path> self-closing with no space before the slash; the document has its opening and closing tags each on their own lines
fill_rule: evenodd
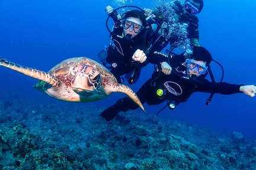
<svg viewBox="0 0 256 170">
<path fill-rule="evenodd" d="M 183 14 L 188 15 L 188 17 L 199 14 L 203 5 L 203 0 L 186 0 L 183 6 Z"/>
</svg>

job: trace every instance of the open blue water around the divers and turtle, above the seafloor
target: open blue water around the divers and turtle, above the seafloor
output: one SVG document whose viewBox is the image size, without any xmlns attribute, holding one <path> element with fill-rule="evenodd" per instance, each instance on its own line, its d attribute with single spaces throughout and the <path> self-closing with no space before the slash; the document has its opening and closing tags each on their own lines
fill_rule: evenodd
<svg viewBox="0 0 256 170">
<path fill-rule="evenodd" d="M 105 6 L 135 5 L 151 8 L 160 1 L 0 1 L 0 55 L 15 63 L 47 71 L 66 58 L 85 56 L 98 61 L 97 53 L 109 43 L 105 28 Z M 256 25 L 255 1 L 205 1 L 199 16 L 200 44 L 206 47 L 225 68 L 224 81 L 235 84 L 256 84 L 254 78 Z M 216 79 L 220 68 L 213 64 Z M 152 66 L 132 89 L 137 90 L 151 77 Z M 37 80 L 0 67 L 1 95 L 22 97 L 34 102 L 65 104 L 32 88 Z M 195 123 L 218 132 L 241 132 L 256 139 L 255 99 L 244 94 L 215 94 L 209 106 L 209 94 L 193 94 L 175 110 L 165 109 L 159 117 Z M 122 94 L 113 94 L 94 103 L 107 108 Z M 73 105 L 75 106 L 75 105 Z M 155 114 L 164 107 L 145 106 L 146 114 Z M 95 113 L 99 116 L 100 113 Z M 100 117 L 99 117 L 100 118 Z"/>
</svg>

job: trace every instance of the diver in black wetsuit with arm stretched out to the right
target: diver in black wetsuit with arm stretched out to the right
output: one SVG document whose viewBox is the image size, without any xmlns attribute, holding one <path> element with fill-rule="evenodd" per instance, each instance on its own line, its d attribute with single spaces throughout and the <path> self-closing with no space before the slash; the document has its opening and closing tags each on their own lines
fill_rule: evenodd
<svg viewBox="0 0 256 170">
<path fill-rule="evenodd" d="M 146 102 L 149 105 L 157 105 L 167 101 L 169 109 L 175 109 L 178 104 L 186 102 L 191 94 L 197 91 L 220 94 L 244 93 L 250 97 L 255 96 L 256 87 L 254 85 L 213 83 L 207 80 L 205 78 L 207 69 L 213 59 L 204 47 L 194 47 L 191 55 L 185 53 L 165 55 L 156 51 L 154 53 L 160 63 L 161 61 L 167 62 L 171 66 L 171 74 L 163 73 L 161 67 L 154 71 L 152 78 L 146 81 L 136 93 L 142 104 Z M 119 112 L 127 112 L 137 109 L 137 107 L 129 97 L 124 97 L 105 109 L 100 116 L 110 121 Z"/>
</svg>

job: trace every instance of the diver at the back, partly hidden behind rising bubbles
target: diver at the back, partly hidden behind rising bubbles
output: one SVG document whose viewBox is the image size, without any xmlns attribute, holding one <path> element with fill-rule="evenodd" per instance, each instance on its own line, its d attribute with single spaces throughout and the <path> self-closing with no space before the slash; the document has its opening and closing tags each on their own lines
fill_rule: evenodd
<svg viewBox="0 0 256 170">
<path fill-rule="evenodd" d="M 200 46 L 199 19 L 197 14 L 203 9 L 203 0 L 172 1 L 157 8 L 145 8 L 147 15 L 155 15 L 155 21 L 161 25 L 162 37 L 155 48 L 161 51 L 169 43 L 171 49 L 180 47 L 184 50 Z M 158 31 L 159 27 L 155 28 Z"/>
</svg>

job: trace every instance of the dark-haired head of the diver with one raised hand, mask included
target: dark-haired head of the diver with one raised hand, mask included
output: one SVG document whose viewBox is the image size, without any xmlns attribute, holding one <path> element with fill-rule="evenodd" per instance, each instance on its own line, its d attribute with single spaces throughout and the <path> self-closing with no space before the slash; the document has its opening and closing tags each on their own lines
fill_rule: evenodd
<svg viewBox="0 0 256 170">
<path fill-rule="evenodd" d="M 124 36 L 129 34 L 131 38 L 136 37 L 146 25 L 146 15 L 139 10 L 128 11 L 122 16 Z"/>
</svg>

